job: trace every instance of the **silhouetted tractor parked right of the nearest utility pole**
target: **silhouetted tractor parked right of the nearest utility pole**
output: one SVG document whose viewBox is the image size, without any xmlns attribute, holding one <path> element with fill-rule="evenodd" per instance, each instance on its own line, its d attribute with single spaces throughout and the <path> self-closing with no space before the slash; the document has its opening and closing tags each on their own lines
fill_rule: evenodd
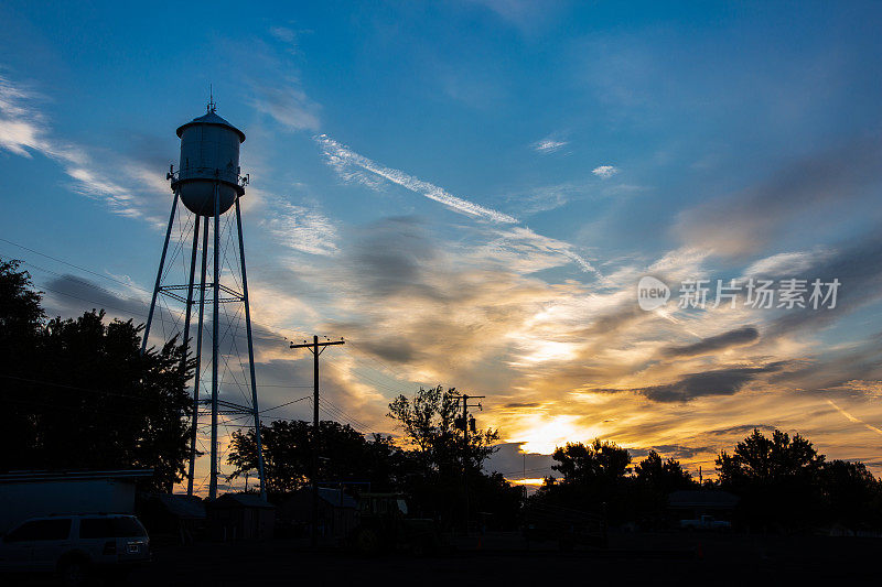
<svg viewBox="0 0 882 587">
<path fill-rule="evenodd" d="M 434 520 L 408 517 L 401 493 L 362 493 L 349 543 L 363 554 L 404 550 L 422 555 L 441 546 L 441 535 Z"/>
</svg>

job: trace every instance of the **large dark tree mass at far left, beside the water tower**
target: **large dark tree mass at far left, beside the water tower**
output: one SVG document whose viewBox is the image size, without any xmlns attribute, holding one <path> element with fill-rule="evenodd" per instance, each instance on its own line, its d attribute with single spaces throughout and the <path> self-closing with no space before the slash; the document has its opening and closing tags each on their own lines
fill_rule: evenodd
<svg viewBox="0 0 882 587">
<path fill-rule="evenodd" d="M 151 487 L 183 476 L 192 409 L 175 340 L 140 354 L 140 326 L 87 312 L 46 322 L 15 262 L 0 262 L 0 469 L 153 468 Z M 184 365 L 184 369 L 181 366 Z"/>
</svg>

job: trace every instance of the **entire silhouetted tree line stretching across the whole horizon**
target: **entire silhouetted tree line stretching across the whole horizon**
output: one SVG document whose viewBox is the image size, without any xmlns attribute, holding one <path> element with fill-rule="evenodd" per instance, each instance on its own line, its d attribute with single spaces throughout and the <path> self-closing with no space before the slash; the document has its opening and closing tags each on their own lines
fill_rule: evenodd
<svg viewBox="0 0 882 587">
<path fill-rule="evenodd" d="M 107 322 L 103 311 L 76 319 L 46 317 L 28 272 L 0 260 L 0 470 L 152 468 L 146 489 L 170 491 L 184 478 L 193 361 L 171 340 L 141 355 L 141 326 Z M 281 497 L 319 481 L 407 493 L 415 513 L 448 526 L 472 520 L 516 528 L 523 492 L 485 470 L 498 431 L 458 417 L 455 389 L 399 395 L 388 416 L 401 431 L 365 436 L 333 421 L 312 425 L 277 420 L 262 425 L 267 489 Z M 612 524 L 669 523 L 673 491 L 727 490 L 740 498 L 734 522 L 745 530 L 810 531 L 838 523 L 849 530 L 882 528 L 882 481 L 862 463 L 827 460 L 796 434 L 759 430 L 732 453 L 719 453 L 718 478 L 702 486 L 673 458 L 650 450 L 632 467 L 631 454 L 611 442 L 570 443 L 552 455 L 558 474 L 528 501 L 603 511 Z M 257 468 L 252 430 L 233 434 L 228 464 L 236 479 Z"/>
</svg>

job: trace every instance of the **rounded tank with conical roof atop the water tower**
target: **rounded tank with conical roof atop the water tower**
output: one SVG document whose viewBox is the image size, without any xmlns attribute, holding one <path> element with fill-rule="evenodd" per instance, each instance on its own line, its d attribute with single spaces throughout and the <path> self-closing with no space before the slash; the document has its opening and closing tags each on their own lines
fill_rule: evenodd
<svg viewBox="0 0 882 587">
<path fill-rule="evenodd" d="M 178 129 L 181 164 L 172 187 L 180 189 L 181 202 L 193 214 L 214 216 L 214 191 L 220 196 L 224 214 L 245 194 L 239 184 L 239 145 L 245 133 L 217 116 L 195 118 Z"/>
</svg>

